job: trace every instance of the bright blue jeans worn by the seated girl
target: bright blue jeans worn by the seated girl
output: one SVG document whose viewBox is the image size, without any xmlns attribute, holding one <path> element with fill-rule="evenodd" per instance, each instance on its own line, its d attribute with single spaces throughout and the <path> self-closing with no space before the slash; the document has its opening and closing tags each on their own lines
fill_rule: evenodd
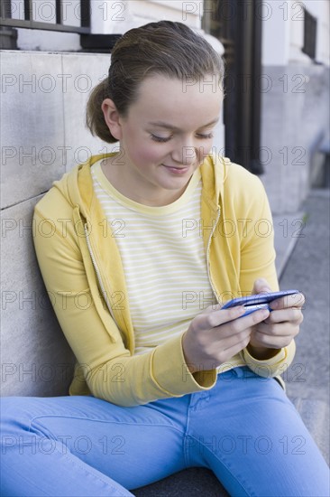
<svg viewBox="0 0 330 497">
<path fill-rule="evenodd" d="M 276 380 L 122 408 L 94 397 L 2 399 L 4 496 L 116 496 L 192 466 L 234 496 L 328 496 L 325 460 Z"/>
</svg>

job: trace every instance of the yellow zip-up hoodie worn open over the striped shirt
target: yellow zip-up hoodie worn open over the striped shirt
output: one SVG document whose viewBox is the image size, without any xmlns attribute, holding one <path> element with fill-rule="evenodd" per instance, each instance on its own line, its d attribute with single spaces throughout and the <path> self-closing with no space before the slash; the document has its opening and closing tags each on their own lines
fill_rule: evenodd
<svg viewBox="0 0 330 497">
<path fill-rule="evenodd" d="M 189 372 L 182 335 L 151 352 L 133 354 L 124 270 L 115 237 L 105 230 L 90 172 L 106 156 L 94 155 L 64 174 L 34 211 L 42 277 L 78 361 L 69 393 L 135 406 L 211 389 L 217 371 Z M 261 181 L 216 155 L 208 155 L 200 171 L 200 230 L 218 301 L 251 294 L 258 277 L 277 290 L 270 207 Z M 261 376 L 273 377 L 289 367 L 294 353 L 293 341 L 267 361 L 252 358 L 244 349 L 221 370 L 248 365 Z"/>
</svg>

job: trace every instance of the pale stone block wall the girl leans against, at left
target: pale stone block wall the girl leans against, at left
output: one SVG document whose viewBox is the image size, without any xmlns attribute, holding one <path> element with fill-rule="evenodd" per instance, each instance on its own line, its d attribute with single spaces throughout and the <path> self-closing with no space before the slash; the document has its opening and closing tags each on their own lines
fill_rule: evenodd
<svg viewBox="0 0 330 497">
<path fill-rule="evenodd" d="M 34 254 L 32 211 L 51 183 L 87 155 L 110 152 L 85 127 L 104 54 L 1 52 L 2 395 L 68 391 L 74 358 Z"/>
</svg>

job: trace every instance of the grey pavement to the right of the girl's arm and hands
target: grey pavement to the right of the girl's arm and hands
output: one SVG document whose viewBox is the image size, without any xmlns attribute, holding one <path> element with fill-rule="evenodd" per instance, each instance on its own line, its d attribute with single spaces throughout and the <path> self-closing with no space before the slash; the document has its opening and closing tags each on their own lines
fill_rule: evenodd
<svg viewBox="0 0 330 497">
<path fill-rule="evenodd" d="M 312 190 L 303 211 L 306 227 L 280 278 L 281 288 L 298 288 L 307 299 L 295 361 L 286 380 L 289 395 L 329 403 L 330 190 Z"/>
</svg>

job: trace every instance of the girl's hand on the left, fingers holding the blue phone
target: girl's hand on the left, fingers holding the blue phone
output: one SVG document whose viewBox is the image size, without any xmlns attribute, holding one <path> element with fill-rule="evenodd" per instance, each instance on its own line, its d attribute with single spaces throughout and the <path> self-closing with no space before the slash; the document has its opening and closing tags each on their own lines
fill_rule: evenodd
<svg viewBox="0 0 330 497">
<path fill-rule="evenodd" d="M 183 334 L 182 346 L 188 369 L 213 370 L 241 352 L 250 342 L 252 327 L 270 314 L 261 309 L 244 314 L 243 305 L 221 310 L 221 306 L 207 307 L 190 323 Z M 240 318 L 240 319 L 238 319 Z"/>
</svg>

